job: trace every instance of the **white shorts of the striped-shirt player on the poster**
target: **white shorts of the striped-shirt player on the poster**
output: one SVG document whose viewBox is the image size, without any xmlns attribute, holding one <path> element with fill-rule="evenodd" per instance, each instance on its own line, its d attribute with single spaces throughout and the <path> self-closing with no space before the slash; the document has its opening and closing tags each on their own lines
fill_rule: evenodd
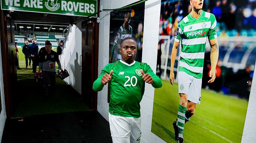
<svg viewBox="0 0 256 143">
<path fill-rule="evenodd" d="M 200 104 L 202 78 L 195 78 L 185 72 L 178 73 L 179 93 L 187 95 L 187 100 Z"/>
</svg>

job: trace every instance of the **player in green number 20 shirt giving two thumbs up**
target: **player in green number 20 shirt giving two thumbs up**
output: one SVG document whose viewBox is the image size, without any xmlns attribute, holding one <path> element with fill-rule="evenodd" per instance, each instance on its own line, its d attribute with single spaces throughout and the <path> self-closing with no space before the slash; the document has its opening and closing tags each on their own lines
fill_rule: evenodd
<svg viewBox="0 0 256 143">
<path fill-rule="evenodd" d="M 109 83 L 109 126 L 113 143 L 138 143 L 141 137 L 140 101 L 145 90 L 145 82 L 154 88 L 162 87 L 147 63 L 134 60 L 137 43 L 132 37 L 121 41 L 122 59 L 107 64 L 93 83 L 94 91 L 101 91 Z"/>
</svg>

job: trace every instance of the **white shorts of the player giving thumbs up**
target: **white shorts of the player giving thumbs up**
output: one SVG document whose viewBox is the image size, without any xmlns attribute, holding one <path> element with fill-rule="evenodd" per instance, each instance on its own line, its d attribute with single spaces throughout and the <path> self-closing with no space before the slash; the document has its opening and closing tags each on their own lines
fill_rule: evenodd
<svg viewBox="0 0 256 143">
<path fill-rule="evenodd" d="M 141 118 L 123 117 L 109 113 L 109 126 L 113 143 L 139 143 Z"/>
</svg>

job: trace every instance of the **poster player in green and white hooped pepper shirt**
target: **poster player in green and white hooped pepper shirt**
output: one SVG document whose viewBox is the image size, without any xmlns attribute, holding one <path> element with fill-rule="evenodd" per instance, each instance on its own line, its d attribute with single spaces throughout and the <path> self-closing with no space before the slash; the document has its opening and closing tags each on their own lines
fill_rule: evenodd
<svg viewBox="0 0 256 143">
<path fill-rule="evenodd" d="M 177 48 L 181 42 L 179 59 L 178 85 L 179 109 L 178 118 L 173 122 L 175 139 L 183 142 L 185 123 L 194 114 L 197 103 L 201 101 L 201 86 L 204 64 L 205 44 L 208 38 L 211 45 L 211 79 L 215 80 L 215 69 L 219 49 L 216 34 L 216 19 L 212 13 L 202 10 L 204 0 L 190 0 L 192 11 L 180 21 L 171 55 L 170 83 L 174 83 L 174 63 Z"/>
</svg>

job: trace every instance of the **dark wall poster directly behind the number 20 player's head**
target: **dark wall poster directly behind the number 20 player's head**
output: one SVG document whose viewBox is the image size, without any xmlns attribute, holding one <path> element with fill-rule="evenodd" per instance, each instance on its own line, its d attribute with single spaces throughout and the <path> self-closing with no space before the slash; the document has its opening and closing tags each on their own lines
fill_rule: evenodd
<svg viewBox="0 0 256 143">
<path fill-rule="evenodd" d="M 141 62 L 143 50 L 144 11 L 145 3 L 141 3 L 126 9 L 110 12 L 109 63 L 121 60 L 119 52 L 120 42 L 126 37 L 133 37 L 137 41 L 137 54 L 135 60 Z"/>
</svg>

